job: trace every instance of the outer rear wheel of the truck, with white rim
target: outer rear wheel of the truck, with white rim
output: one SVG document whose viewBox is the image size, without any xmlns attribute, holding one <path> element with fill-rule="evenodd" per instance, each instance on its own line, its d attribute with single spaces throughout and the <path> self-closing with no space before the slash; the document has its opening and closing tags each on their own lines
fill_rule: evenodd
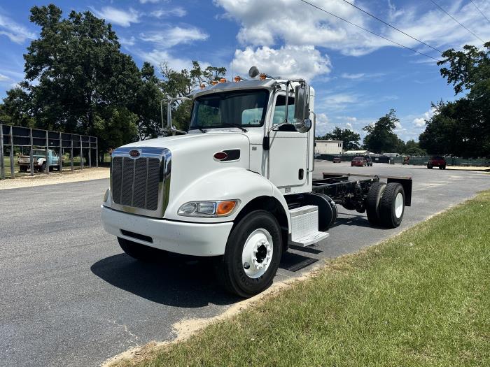
<svg viewBox="0 0 490 367">
<path fill-rule="evenodd" d="M 398 182 L 390 182 L 379 201 L 379 220 L 382 226 L 396 228 L 405 213 L 405 191 Z"/>
</svg>

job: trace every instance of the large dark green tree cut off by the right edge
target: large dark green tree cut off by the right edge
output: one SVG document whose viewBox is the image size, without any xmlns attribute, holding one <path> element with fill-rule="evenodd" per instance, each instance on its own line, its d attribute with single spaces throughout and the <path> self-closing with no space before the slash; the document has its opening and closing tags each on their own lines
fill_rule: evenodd
<svg viewBox="0 0 490 367">
<path fill-rule="evenodd" d="M 430 153 L 467 157 L 490 156 L 490 42 L 484 50 L 465 45 L 442 53 L 438 65 L 456 95 L 454 102 L 433 105 L 436 113 L 426 122 L 420 145 Z"/>
</svg>

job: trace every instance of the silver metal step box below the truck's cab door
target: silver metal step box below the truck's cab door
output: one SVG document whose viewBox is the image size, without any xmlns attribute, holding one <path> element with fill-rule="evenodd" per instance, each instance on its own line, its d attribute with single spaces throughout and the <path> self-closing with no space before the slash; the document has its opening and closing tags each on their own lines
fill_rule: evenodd
<svg viewBox="0 0 490 367">
<path fill-rule="evenodd" d="M 290 245 L 309 246 L 328 237 L 328 232 L 318 231 L 318 207 L 300 206 L 289 210 L 291 218 Z"/>
</svg>

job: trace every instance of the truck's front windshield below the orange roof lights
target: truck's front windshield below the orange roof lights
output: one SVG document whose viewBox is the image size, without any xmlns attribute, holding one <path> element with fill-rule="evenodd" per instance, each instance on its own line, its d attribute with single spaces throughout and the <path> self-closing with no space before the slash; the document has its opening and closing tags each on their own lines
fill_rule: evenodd
<svg viewBox="0 0 490 367">
<path fill-rule="evenodd" d="M 202 96 L 194 101 L 190 129 L 229 127 L 261 127 L 264 124 L 269 91 L 223 92 Z"/>
</svg>

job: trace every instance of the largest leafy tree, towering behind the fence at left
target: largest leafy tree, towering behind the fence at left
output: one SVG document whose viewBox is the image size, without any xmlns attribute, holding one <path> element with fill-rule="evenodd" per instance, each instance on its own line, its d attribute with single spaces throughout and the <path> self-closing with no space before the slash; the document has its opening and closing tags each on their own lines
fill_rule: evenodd
<svg viewBox="0 0 490 367">
<path fill-rule="evenodd" d="M 112 118 L 114 108 L 134 104 L 139 69 L 120 52 L 111 24 L 89 11 L 71 11 L 62 19 L 62 10 L 53 4 L 34 6 L 29 19 L 41 32 L 24 55 L 25 80 L 4 100 L 13 122 L 26 124 L 29 116 L 41 129 L 95 134 L 96 119 Z M 118 130 L 107 135 L 129 128 L 106 126 Z"/>
</svg>

